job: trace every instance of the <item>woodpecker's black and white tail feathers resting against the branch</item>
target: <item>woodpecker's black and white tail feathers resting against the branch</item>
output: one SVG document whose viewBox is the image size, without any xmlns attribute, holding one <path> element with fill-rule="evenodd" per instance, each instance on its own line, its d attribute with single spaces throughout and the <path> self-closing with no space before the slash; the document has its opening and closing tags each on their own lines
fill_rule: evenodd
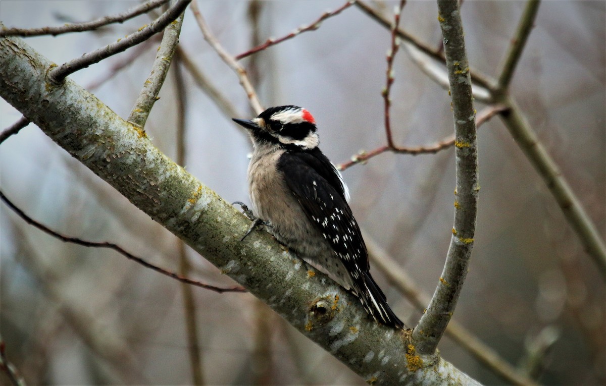
<svg viewBox="0 0 606 386">
<path fill-rule="evenodd" d="M 362 306 L 368 315 L 375 318 L 381 324 L 389 325 L 396 329 L 405 327 L 404 323 L 396 316 L 387 304 L 387 299 L 379 286 L 370 276 L 370 272 L 362 272 L 360 280 L 355 288 L 356 295 L 362 302 Z"/>
</svg>

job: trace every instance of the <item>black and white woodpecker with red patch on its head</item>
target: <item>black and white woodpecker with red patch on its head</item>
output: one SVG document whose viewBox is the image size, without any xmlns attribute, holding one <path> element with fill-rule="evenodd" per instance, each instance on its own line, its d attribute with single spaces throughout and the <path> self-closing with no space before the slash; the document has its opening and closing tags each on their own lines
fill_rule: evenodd
<svg viewBox="0 0 606 386">
<path fill-rule="evenodd" d="M 289 250 L 353 292 L 375 321 L 404 328 L 370 275 L 347 185 L 320 150 L 311 113 L 276 106 L 233 121 L 247 129 L 253 143 L 247 172 L 253 224 L 263 224 Z"/>
</svg>

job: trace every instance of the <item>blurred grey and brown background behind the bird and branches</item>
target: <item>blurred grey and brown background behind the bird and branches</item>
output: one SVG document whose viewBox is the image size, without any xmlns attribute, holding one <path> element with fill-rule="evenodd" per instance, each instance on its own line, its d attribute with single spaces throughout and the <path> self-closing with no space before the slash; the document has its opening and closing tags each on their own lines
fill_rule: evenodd
<svg viewBox="0 0 606 386">
<path fill-rule="evenodd" d="M 307 25 L 342 1 L 199 1 L 202 15 L 232 54 Z M 133 1 L 2 0 L 7 27 L 88 21 L 127 10 Z M 395 2 L 372 4 L 393 15 Z M 498 76 L 524 8 L 520 1 L 465 1 L 462 16 L 470 65 Z M 433 47 L 441 33 L 435 2 L 410 1 L 401 27 Z M 514 74 L 511 94 L 560 166 L 602 237 L 606 232 L 606 2 L 548 1 Z M 61 64 L 148 24 L 147 15 L 98 31 L 27 38 Z M 121 117 L 147 78 L 159 40 L 73 74 Z M 265 107 L 294 104 L 315 116 L 322 149 L 335 163 L 385 143 L 383 100 L 388 30 L 356 7 L 241 61 Z M 238 117 L 254 114 L 238 78 L 185 12 L 180 47 Z M 133 53 L 133 51 L 136 51 Z M 122 67 L 121 67 L 122 66 Z M 145 130 L 176 159 L 179 105 L 184 106 L 185 166 L 227 201 L 248 201 L 250 143 L 175 63 Z M 451 134 L 447 91 L 419 70 L 405 50 L 395 60 L 391 125 L 399 145 L 435 143 Z M 182 85 L 181 85 L 182 83 Z M 477 110 L 484 107 L 477 103 Z M 0 100 L 0 128 L 21 114 Z M 538 381 L 604 384 L 606 295 L 556 201 L 505 126 L 494 117 L 479 129 L 481 192 L 470 272 L 454 318 L 515 366 L 543 344 Z M 177 271 L 179 240 L 73 160 L 35 126 L 0 146 L 2 191 L 55 231 L 119 244 Z M 444 264 L 453 219 L 454 152 L 382 154 L 343 172 L 351 207 L 368 238 L 398 261 L 427 294 Z M 191 288 L 122 255 L 62 243 L 0 205 L 0 333 L 10 361 L 28 384 L 334 384 L 362 385 L 345 365 L 308 341 L 247 293 Z M 235 283 L 191 250 L 189 276 L 216 286 Z M 373 275 L 409 325 L 421 312 Z M 186 318 L 185 315 L 190 315 Z M 192 318 L 195 317 L 195 318 Z M 199 371 L 191 370 L 186 321 L 195 323 Z M 505 384 L 444 338 L 442 356 L 485 384 Z M 0 383 L 6 384 L 4 374 Z"/>
</svg>

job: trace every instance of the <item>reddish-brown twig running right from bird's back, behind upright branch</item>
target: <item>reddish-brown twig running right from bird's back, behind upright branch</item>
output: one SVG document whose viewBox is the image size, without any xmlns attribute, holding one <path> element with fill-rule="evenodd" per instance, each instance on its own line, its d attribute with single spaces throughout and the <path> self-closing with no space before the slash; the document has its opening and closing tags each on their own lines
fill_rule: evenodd
<svg viewBox="0 0 606 386">
<path fill-rule="evenodd" d="M 492 117 L 496 116 L 496 114 L 502 113 L 508 109 L 505 105 L 490 105 L 484 110 L 478 113 L 476 118 L 476 126 L 479 127 L 483 125 L 485 122 L 488 122 Z M 365 163 L 376 155 L 382 154 L 384 152 L 394 152 L 398 154 L 435 154 L 441 150 L 451 148 L 455 143 L 454 134 L 442 139 L 439 142 L 434 143 L 433 145 L 423 145 L 423 146 L 395 146 L 395 148 L 390 148 L 387 145 L 379 146 L 378 148 L 371 150 L 369 152 L 361 152 L 359 154 L 353 155 L 351 159 L 347 162 L 340 163 L 337 165 L 339 170 L 345 170 L 350 168 L 357 163 Z"/>
</svg>

